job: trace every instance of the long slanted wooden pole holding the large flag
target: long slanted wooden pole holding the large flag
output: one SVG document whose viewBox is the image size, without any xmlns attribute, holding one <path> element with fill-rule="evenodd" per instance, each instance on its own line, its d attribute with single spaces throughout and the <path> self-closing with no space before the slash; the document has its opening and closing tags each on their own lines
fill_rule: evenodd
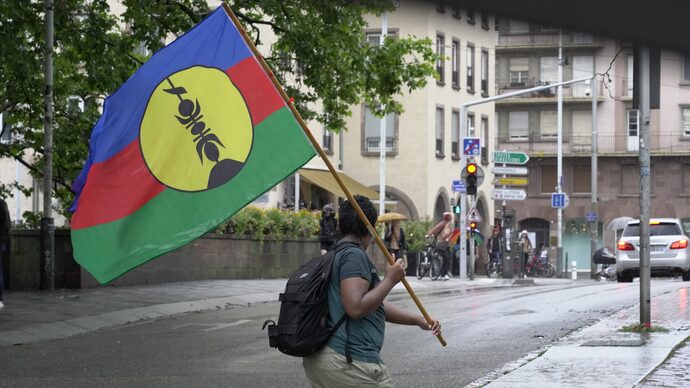
<svg viewBox="0 0 690 388">
<path fill-rule="evenodd" d="M 237 27 L 237 30 L 240 32 L 242 35 L 242 38 L 244 38 L 244 41 L 247 43 L 249 48 L 251 48 L 252 52 L 254 53 L 254 56 L 256 59 L 259 61 L 261 64 L 261 67 L 263 67 L 264 71 L 266 74 L 268 74 L 269 78 L 271 78 L 271 81 L 273 82 L 273 85 L 276 87 L 278 92 L 280 93 L 281 97 L 283 100 L 285 100 L 285 103 L 287 106 L 290 108 L 292 111 L 292 114 L 295 116 L 297 119 L 297 122 L 299 125 L 302 127 L 302 130 L 304 131 L 304 134 L 307 135 L 309 138 L 309 141 L 311 141 L 311 144 L 314 146 L 314 149 L 316 149 L 316 152 L 319 154 L 321 159 L 323 159 L 324 163 L 326 163 L 326 166 L 328 167 L 328 171 L 331 172 L 331 175 L 333 175 L 333 178 L 335 178 L 336 182 L 338 182 L 338 185 L 340 188 L 343 190 L 345 195 L 347 196 L 348 201 L 350 201 L 350 204 L 352 204 L 352 207 L 355 209 L 357 212 L 357 215 L 359 215 L 359 218 L 364 222 L 364 225 L 367 226 L 367 229 L 369 230 L 369 233 L 374 237 L 374 241 L 376 241 L 376 245 L 378 245 L 379 249 L 381 249 L 381 252 L 386 256 L 386 260 L 388 260 L 388 263 L 391 265 L 395 263 L 395 260 L 393 257 L 390 255 L 388 252 L 388 249 L 386 249 L 386 246 L 383 244 L 383 240 L 381 240 L 381 237 L 379 234 L 376 232 L 376 229 L 369 223 L 369 220 L 367 217 L 364 215 L 364 212 L 362 212 L 362 209 L 359 207 L 357 204 L 357 201 L 355 201 L 354 197 L 350 193 L 350 190 L 345 186 L 345 183 L 340 179 L 340 176 L 338 173 L 335 171 L 335 167 L 333 167 L 333 164 L 331 163 L 330 159 L 328 159 L 328 156 L 326 156 L 326 153 L 321 149 L 321 146 L 319 145 L 318 141 L 314 138 L 314 135 L 311 133 L 309 128 L 307 127 L 307 123 L 304 122 L 302 119 L 302 116 L 300 116 L 299 112 L 297 112 L 297 109 L 293 106 L 293 104 L 290 102 L 290 98 L 288 95 L 285 93 L 283 90 L 283 87 L 280 85 L 278 80 L 276 79 L 275 75 L 273 74 L 273 71 L 268 67 L 268 64 L 264 60 L 263 56 L 261 53 L 259 53 L 259 50 L 254 46 L 254 43 L 249 39 L 249 36 L 247 35 L 247 32 L 244 30 L 242 25 L 240 24 L 240 21 L 237 19 L 237 16 L 232 12 L 230 7 L 223 3 L 223 8 L 225 9 L 225 12 L 228 14 L 232 22 L 235 24 Z M 383 206 L 384 204 L 380 204 L 380 206 Z M 426 309 L 422 305 L 422 302 L 419 301 L 419 298 L 415 294 L 414 290 L 412 290 L 412 287 L 410 287 L 410 283 L 408 283 L 407 279 L 403 278 L 402 279 L 402 284 L 405 286 L 405 289 L 407 292 L 410 294 L 412 297 L 412 300 L 414 300 L 414 303 L 417 305 L 419 308 L 419 311 L 424 315 L 424 318 L 426 321 L 429 323 L 429 325 L 433 324 L 433 321 L 431 317 L 429 316 L 429 313 L 426 312 Z M 437 336 L 439 342 L 441 342 L 441 345 L 446 346 L 446 340 L 443 338 L 443 335 L 439 333 Z"/>
</svg>

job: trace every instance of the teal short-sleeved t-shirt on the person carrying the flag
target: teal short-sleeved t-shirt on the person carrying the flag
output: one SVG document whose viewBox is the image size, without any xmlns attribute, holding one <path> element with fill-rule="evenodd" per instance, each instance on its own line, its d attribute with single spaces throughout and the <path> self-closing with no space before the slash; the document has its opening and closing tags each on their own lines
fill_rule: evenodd
<svg viewBox="0 0 690 388">
<path fill-rule="evenodd" d="M 334 325 L 343 314 L 340 283 L 351 277 L 366 279 L 375 287 L 381 282 L 376 267 L 366 253 L 355 246 L 340 249 L 335 255 L 330 284 L 328 287 L 328 310 L 330 324 Z M 360 319 L 348 318 L 328 341 L 328 346 L 345 355 L 345 342 L 348 340 L 346 325 L 350 326 L 350 355 L 353 360 L 362 362 L 381 362 L 379 352 L 383 346 L 383 335 L 386 328 L 386 314 L 383 304 L 369 315 Z"/>
</svg>

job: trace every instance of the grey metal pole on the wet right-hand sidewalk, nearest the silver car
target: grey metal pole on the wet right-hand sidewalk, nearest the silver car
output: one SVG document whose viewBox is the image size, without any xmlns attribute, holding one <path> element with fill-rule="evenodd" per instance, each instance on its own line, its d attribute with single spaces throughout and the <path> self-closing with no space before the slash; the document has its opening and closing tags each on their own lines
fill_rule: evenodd
<svg viewBox="0 0 690 388">
<path fill-rule="evenodd" d="M 640 46 L 640 323 L 651 325 L 650 317 L 650 269 L 649 269 L 649 115 L 650 115 L 650 55 L 649 46 Z"/>
</svg>

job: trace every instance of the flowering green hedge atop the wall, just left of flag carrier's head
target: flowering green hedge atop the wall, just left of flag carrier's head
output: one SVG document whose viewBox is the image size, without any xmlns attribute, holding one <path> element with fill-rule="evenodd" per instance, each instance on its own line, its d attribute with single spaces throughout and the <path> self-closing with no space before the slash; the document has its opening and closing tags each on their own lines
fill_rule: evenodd
<svg viewBox="0 0 690 388">
<path fill-rule="evenodd" d="M 235 213 L 215 230 L 216 233 L 252 236 L 259 240 L 316 237 L 319 233 L 319 214 L 307 210 L 264 210 L 247 206 Z"/>
</svg>

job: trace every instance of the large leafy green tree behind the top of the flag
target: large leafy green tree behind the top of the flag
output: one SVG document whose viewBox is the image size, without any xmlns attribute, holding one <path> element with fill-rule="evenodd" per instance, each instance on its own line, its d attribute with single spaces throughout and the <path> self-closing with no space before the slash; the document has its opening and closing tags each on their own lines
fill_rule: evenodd
<svg viewBox="0 0 690 388">
<path fill-rule="evenodd" d="M 54 192 L 63 214 L 105 97 L 150 53 L 209 12 L 205 0 L 121 3 L 125 11 L 115 15 L 106 0 L 55 0 Z M 365 15 L 392 10 L 387 0 L 235 0 L 229 5 L 303 118 L 330 130 L 345 129 L 350 107 L 361 102 L 378 116 L 401 113 L 396 98 L 435 75 L 428 38 L 387 38 L 383 47 L 365 42 Z M 273 35 L 270 41 L 267 33 Z M 0 112 L 13 133 L 12 143 L 0 146 L 0 156 L 18 160 L 38 178 L 44 39 L 42 2 L 0 2 Z M 0 194 L 13 187 L 16 182 L 0 184 Z"/>
</svg>

